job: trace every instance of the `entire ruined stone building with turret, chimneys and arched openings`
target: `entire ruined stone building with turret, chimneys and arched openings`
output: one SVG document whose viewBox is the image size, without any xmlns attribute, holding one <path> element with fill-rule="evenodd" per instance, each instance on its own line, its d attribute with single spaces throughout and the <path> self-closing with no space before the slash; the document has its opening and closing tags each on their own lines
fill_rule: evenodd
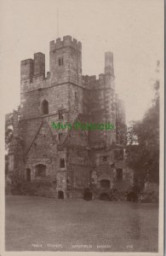
<svg viewBox="0 0 166 256">
<path fill-rule="evenodd" d="M 103 58 L 104 59 L 104 58 Z M 104 61 L 103 61 L 104 62 Z M 104 64 L 104 63 L 103 63 Z M 20 111 L 14 111 L 9 176 L 35 195 L 55 198 L 94 196 L 132 186 L 125 163 L 126 124 L 117 97 L 112 52 L 105 53 L 99 79 L 82 74 L 82 44 L 57 38 L 45 55 L 20 62 Z M 52 123 L 112 123 L 114 130 L 55 130 Z"/>
</svg>

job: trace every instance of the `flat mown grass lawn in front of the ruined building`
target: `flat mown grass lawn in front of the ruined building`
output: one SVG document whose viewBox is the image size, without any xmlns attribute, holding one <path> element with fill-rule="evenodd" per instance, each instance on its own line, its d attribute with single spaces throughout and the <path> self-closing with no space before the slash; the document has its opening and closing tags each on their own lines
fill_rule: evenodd
<svg viewBox="0 0 166 256">
<path fill-rule="evenodd" d="M 6 196 L 7 251 L 157 252 L 156 204 Z"/>
</svg>

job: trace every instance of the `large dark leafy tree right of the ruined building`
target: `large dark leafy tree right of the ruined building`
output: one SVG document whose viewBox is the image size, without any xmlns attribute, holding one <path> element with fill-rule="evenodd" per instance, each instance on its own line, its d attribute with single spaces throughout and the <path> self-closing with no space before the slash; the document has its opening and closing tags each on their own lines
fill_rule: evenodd
<svg viewBox="0 0 166 256">
<path fill-rule="evenodd" d="M 157 70 L 159 61 L 157 61 Z M 135 171 L 135 184 L 159 182 L 159 80 L 153 83 L 154 97 L 141 121 L 129 127 L 128 164 Z"/>
</svg>

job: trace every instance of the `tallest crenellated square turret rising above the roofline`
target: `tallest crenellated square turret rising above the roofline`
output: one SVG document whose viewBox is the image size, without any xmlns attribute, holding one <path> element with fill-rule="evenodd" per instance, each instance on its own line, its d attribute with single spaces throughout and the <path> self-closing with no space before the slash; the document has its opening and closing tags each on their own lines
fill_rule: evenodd
<svg viewBox="0 0 166 256">
<path fill-rule="evenodd" d="M 50 42 L 50 79 L 56 84 L 82 82 L 82 44 L 71 36 L 57 38 Z"/>
</svg>

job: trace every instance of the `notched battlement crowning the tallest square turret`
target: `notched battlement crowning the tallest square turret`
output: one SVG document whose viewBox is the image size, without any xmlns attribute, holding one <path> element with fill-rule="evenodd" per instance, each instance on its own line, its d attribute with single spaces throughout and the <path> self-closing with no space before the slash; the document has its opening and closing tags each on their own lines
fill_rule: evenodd
<svg viewBox="0 0 166 256">
<path fill-rule="evenodd" d="M 65 36 L 63 37 L 63 40 L 57 38 L 56 41 L 53 40 L 49 43 L 50 52 L 63 47 L 72 47 L 73 49 L 77 49 L 79 51 L 82 50 L 81 42 L 77 41 L 77 39 L 72 38 L 71 36 Z"/>
</svg>

